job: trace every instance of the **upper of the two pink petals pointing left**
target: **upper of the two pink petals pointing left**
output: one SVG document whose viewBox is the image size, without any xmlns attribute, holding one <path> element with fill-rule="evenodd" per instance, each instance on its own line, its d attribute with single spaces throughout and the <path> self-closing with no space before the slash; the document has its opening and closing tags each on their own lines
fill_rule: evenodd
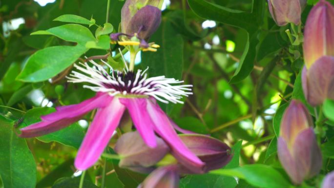
<svg viewBox="0 0 334 188">
<path fill-rule="evenodd" d="M 103 95 L 97 94 L 95 97 L 87 99 L 80 104 L 58 107 L 58 111 L 42 116 L 41 119 L 44 121 L 58 121 L 63 118 L 81 116 L 94 108 L 104 107 L 105 105 L 109 104 L 111 100 L 112 97 L 110 97 L 107 93 Z"/>
</svg>

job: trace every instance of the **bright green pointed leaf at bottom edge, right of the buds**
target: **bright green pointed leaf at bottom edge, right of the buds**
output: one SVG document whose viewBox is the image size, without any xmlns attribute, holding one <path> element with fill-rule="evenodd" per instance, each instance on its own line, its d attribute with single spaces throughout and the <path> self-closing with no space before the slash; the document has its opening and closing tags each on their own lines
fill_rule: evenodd
<svg viewBox="0 0 334 188">
<path fill-rule="evenodd" d="M 246 180 L 252 186 L 261 188 L 292 187 L 276 169 L 261 164 L 245 165 L 232 169 L 219 169 L 210 173 L 238 177 Z"/>
</svg>

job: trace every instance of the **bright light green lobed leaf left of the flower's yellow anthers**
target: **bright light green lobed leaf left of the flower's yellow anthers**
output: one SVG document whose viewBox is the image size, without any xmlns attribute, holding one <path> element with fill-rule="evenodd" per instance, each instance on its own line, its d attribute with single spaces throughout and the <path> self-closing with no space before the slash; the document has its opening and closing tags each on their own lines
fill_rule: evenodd
<svg viewBox="0 0 334 188">
<path fill-rule="evenodd" d="M 35 34 L 54 35 L 68 42 L 76 42 L 77 45 L 47 47 L 31 55 L 17 77 L 23 82 L 41 82 L 56 76 L 88 50 L 85 46 L 88 41 L 97 42 L 89 29 L 79 24 L 66 24 L 32 33 Z M 105 47 L 103 44 L 105 42 L 97 46 Z"/>
</svg>

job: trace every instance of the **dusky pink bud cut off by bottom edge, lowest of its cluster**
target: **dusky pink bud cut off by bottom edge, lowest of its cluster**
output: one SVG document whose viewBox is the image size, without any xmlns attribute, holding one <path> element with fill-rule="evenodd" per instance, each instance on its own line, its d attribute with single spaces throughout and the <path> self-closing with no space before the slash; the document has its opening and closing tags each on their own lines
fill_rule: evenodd
<svg viewBox="0 0 334 188">
<path fill-rule="evenodd" d="M 179 188 L 179 173 L 176 165 L 154 170 L 138 188 Z"/>
</svg>

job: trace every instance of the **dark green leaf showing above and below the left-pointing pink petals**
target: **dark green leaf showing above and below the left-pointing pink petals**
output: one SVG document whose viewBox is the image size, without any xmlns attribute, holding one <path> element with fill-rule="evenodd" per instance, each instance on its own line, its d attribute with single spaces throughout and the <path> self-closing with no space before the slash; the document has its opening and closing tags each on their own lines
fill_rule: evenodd
<svg viewBox="0 0 334 188">
<path fill-rule="evenodd" d="M 28 110 L 23 116 L 21 125 L 27 126 L 41 121 L 41 116 L 54 112 L 54 108 L 39 107 Z M 42 142 L 58 142 L 65 146 L 79 148 L 84 139 L 84 129 L 77 123 L 67 126 L 59 131 L 37 137 Z"/>
</svg>

